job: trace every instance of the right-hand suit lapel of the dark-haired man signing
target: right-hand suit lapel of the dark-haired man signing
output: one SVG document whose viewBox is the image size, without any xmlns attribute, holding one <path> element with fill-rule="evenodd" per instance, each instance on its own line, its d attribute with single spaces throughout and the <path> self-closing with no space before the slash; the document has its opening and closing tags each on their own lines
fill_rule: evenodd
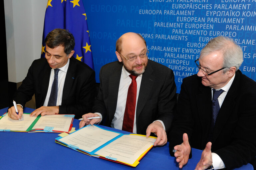
<svg viewBox="0 0 256 170">
<path fill-rule="evenodd" d="M 69 61 L 69 68 L 68 68 L 68 71 L 67 71 L 67 74 L 66 74 L 64 87 L 63 87 L 63 92 L 62 92 L 62 101 L 61 101 L 62 105 L 65 105 L 67 103 L 68 97 L 69 97 L 69 92 L 71 90 L 73 81 L 76 78 L 75 77 L 76 76 L 76 74 L 75 74 L 76 68 L 75 68 L 74 63 L 72 62 L 73 59 L 75 59 L 75 58 L 71 57 L 70 61 Z"/>
</svg>

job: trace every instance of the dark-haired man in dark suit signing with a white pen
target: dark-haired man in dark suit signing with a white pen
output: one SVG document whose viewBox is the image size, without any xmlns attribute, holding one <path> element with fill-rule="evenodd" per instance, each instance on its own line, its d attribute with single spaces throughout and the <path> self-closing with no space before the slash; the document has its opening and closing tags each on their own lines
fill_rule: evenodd
<svg viewBox="0 0 256 170">
<path fill-rule="evenodd" d="M 30 116 L 75 114 L 75 118 L 81 118 L 91 111 L 95 72 L 72 57 L 75 39 L 68 30 L 54 29 L 46 36 L 45 43 L 45 58 L 32 63 L 15 92 L 13 100 L 19 114 L 10 107 L 8 116 L 16 120 L 21 118 L 23 106 L 35 94 L 37 109 Z"/>
</svg>

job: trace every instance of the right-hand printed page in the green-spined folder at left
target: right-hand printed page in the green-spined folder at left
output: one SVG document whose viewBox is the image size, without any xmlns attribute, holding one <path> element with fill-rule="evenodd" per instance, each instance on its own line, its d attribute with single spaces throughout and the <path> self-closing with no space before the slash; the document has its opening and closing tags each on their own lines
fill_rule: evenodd
<svg viewBox="0 0 256 170">
<path fill-rule="evenodd" d="M 72 119 L 72 117 L 65 117 L 65 115 L 44 115 L 40 117 L 32 129 L 54 127 L 53 130 L 69 131 Z"/>
</svg>

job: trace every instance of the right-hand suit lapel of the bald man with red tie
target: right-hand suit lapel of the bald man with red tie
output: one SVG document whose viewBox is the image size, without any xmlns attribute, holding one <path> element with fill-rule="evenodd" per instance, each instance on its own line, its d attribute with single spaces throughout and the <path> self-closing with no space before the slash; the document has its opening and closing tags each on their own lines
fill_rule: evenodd
<svg viewBox="0 0 256 170">
<path fill-rule="evenodd" d="M 148 100 L 148 96 L 153 87 L 155 76 L 152 75 L 153 69 L 150 65 L 150 61 L 148 60 L 148 65 L 145 72 L 142 74 L 142 79 L 140 83 L 139 96 L 137 101 L 137 109 L 136 109 L 136 120 L 138 120 L 138 116 L 141 113 L 142 109 L 145 106 L 146 101 Z"/>
</svg>

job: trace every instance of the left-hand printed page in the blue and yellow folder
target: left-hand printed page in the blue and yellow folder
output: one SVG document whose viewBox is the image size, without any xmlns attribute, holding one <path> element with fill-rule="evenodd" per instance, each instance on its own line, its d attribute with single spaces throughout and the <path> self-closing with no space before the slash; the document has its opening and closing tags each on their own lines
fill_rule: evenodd
<svg viewBox="0 0 256 170">
<path fill-rule="evenodd" d="M 61 138 L 59 141 L 71 144 L 86 152 L 92 152 L 101 145 L 120 135 L 97 126 L 87 126 Z"/>
</svg>

